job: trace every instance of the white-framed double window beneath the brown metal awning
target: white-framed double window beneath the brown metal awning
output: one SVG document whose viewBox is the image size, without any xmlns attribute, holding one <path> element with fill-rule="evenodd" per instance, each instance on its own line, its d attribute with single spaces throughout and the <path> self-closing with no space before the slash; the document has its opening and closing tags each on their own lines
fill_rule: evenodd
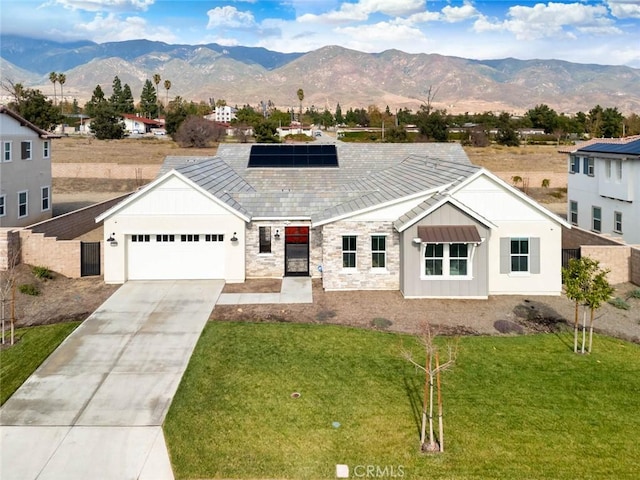
<svg viewBox="0 0 640 480">
<path fill-rule="evenodd" d="M 427 277 L 468 276 L 471 249 L 467 243 L 425 244 L 424 274 Z"/>
</svg>

